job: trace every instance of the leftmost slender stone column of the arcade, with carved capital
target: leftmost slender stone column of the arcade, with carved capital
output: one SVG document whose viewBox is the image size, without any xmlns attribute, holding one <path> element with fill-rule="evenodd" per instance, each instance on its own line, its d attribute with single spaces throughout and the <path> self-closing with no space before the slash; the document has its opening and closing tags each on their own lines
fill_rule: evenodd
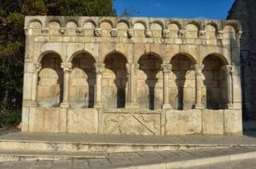
<svg viewBox="0 0 256 169">
<path fill-rule="evenodd" d="M 39 73 L 40 69 L 41 69 L 41 64 L 40 63 L 33 63 L 31 106 L 38 106 L 37 86 L 38 86 L 38 73 Z"/>
</svg>

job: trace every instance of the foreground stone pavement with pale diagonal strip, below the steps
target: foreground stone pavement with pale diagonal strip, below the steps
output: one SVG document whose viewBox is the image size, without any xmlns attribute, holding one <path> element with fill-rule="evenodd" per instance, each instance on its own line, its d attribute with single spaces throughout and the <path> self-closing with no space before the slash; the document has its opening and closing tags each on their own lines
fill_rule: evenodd
<svg viewBox="0 0 256 169">
<path fill-rule="evenodd" d="M 252 165 L 255 164 L 255 152 L 256 148 L 250 147 L 144 153 L 109 153 L 104 159 L 1 162 L 0 169 L 215 168 L 214 166 L 218 167 L 220 164 L 225 164 L 221 168 L 228 169 L 234 167 L 234 165 L 230 165 L 234 162 L 237 164 L 235 169 L 238 169 L 239 167 L 243 167 L 243 165 L 247 165 L 247 163 L 243 163 L 244 160 L 251 162 Z M 202 166 L 200 167 L 200 165 Z"/>
</svg>

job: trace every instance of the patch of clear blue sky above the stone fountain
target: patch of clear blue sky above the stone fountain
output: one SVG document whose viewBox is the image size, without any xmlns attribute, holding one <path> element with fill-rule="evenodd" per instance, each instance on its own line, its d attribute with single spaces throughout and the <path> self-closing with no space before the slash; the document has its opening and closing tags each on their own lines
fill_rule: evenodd
<svg viewBox="0 0 256 169">
<path fill-rule="evenodd" d="M 124 9 L 133 16 L 225 19 L 235 0 L 115 0 L 120 16 Z"/>
</svg>

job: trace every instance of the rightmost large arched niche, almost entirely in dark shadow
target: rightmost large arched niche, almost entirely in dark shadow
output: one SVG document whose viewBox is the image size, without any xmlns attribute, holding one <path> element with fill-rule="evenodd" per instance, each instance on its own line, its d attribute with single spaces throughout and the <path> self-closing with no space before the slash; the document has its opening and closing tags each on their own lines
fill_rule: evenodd
<svg viewBox="0 0 256 169">
<path fill-rule="evenodd" d="M 224 68 L 227 61 L 221 54 L 208 54 L 202 63 L 202 74 L 205 77 L 203 83 L 206 87 L 202 95 L 206 99 L 203 104 L 207 109 L 224 109 L 228 103 L 227 76 Z"/>
</svg>

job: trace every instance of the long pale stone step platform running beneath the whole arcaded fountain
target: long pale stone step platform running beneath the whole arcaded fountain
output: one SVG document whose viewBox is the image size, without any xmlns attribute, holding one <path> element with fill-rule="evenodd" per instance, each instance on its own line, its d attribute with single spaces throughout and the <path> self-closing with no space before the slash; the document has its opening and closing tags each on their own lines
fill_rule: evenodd
<svg viewBox="0 0 256 169">
<path fill-rule="evenodd" d="M 256 138 L 246 136 L 167 137 L 21 132 L 0 136 L 0 149 L 19 151 L 126 153 L 232 147 L 256 147 Z"/>
</svg>

